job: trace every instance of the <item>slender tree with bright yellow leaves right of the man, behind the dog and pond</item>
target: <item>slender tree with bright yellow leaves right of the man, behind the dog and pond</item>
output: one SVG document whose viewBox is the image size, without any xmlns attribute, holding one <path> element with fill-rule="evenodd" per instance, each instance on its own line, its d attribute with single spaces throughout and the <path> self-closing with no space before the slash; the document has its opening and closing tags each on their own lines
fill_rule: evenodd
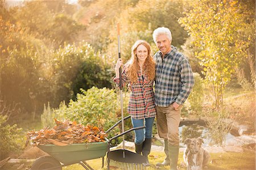
<svg viewBox="0 0 256 170">
<path fill-rule="evenodd" d="M 242 57 L 246 56 L 248 39 L 242 39 L 245 16 L 241 3 L 233 0 L 199 0 L 185 12 L 179 22 L 199 48 L 195 56 L 204 67 L 205 81 L 212 86 L 214 106 L 222 108 L 222 90 L 231 80 Z"/>
</svg>

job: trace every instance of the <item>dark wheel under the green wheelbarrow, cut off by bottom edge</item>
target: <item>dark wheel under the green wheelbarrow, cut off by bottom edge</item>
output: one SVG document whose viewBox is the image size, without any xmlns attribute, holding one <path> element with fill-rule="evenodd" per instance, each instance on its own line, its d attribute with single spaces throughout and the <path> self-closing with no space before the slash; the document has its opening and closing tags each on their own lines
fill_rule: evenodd
<svg viewBox="0 0 256 170">
<path fill-rule="evenodd" d="M 60 162 L 52 156 L 41 156 L 32 164 L 31 170 L 43 170 L 48 168 L 51 168 L 51 170 L 61 170 L 62 167 L 60 166 Z"/>
</svg>

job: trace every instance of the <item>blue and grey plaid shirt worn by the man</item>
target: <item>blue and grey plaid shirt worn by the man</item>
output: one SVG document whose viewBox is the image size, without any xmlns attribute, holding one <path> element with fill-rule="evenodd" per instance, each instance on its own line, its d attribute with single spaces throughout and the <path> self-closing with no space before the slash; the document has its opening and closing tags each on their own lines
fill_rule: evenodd
<svg viewBox="0 0 256 170">
<path fill-rule="evenodd" d="M 194 85 L 193 72 L 185 56 L 171 45 L 172 50 L 164 56 L 158 51 L 154 55 L 156 63 L 155 104 L 160 107 L 171 103 L 182 105 Z"/>
</svg>

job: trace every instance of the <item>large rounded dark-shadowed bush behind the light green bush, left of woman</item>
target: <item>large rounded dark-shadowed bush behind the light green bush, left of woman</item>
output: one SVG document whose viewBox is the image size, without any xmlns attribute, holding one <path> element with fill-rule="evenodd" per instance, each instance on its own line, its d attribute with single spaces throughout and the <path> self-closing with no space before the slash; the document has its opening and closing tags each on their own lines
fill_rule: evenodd
<svg viewBox="0 0 256 170">
<path fill-rule="evenodd" d="M 51 56 L 52 81 L 55 89 L 56 102 L 75 99 L 76 93 L 96 86 L 104 88 L 111 86 L 112 72 L 106 65 L 104 56 L 94 51 L 94 48 L 86 43 L 64 44 Z"/>
</svg>

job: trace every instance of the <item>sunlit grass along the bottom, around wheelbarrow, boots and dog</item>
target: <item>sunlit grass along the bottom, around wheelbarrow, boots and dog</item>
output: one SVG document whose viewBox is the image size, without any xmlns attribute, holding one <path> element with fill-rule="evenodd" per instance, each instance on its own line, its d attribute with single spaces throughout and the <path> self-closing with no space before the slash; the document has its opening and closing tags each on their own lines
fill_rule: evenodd
<svg viewBox="0 0 256 170">
<path fill-rule="evenodd" d="M 72 158 L 71 158 L 72 159 Z M 148 170 L 156 169 L 155 164 L 158 162 L 162 162 L 164 159 L 163 152 L 151 152 L 149 156 L 149 161 L 151 163 L 150 167 L 147 167 Z M 106 157 L 105 157 L 106 160 Z M 1 168 L 1 170 L 14 170 L 17 169 L 21 164 L 6 164 Z M 93 159 L 87 160 L 88 163 L 93 169 L 102 169 L 105 170 L 106 162 L 104 168 L 101 168 L 102 159 Z M 183 153 L 179 154 L 179 169 L 185 170 L 185 164 L 183 162 Z M 23 165 L 22 169 L 28 169 L 31 167 L 31 163 L 26 163 Z M 79 164 L 69 165 L 67 167 L 63 167 L 63 170 L 84 170 L 84 168 Z M 160 168 L 160 169 L 170 169 L 169 166 Z M 255 152 L 246 151 L 246 152 L 226 152 L 221 154 L 210 154 L 210 164 L 208 165 L 208 170 L 228 170 L 228 169 L 244 169 L 244 170 L 254 170 L 255 169 Z"/>
</svg>

